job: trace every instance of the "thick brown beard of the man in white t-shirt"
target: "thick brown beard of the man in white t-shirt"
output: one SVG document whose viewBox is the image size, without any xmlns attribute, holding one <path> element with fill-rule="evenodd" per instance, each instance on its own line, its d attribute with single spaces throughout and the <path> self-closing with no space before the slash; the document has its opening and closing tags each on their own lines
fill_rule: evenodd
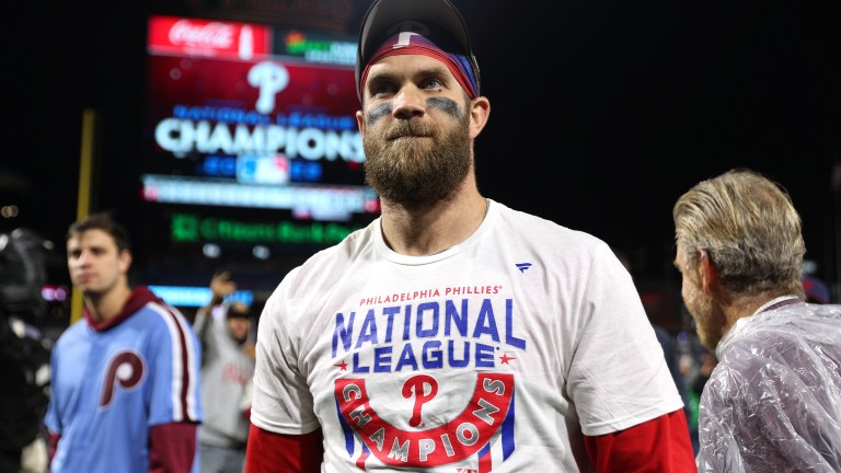
<svg viewBox="0 0 841 473">
<path fill-rule="evenodd" d="M 406 135 L 427 138 L 400 138 Z M 447 197 L 472 165 L 466 114 L 443 130 L 399 120 L 381 135 L 366 134 L 362 145 L 365 182 L 396 204 L 430 204 Z"/>
</svg>

